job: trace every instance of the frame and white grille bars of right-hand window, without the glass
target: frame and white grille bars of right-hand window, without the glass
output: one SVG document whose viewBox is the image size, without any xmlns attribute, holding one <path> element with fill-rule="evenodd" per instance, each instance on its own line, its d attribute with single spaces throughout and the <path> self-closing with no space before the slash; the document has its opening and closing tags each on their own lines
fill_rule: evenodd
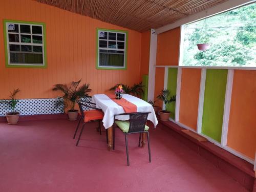
<svg viewBox="0 0 256 192">
<path fill-rule="evenodd" d="M 99 38 L 99 33 L 107 33 L 107 38 L 106 39 L 100 39 Z M 108 39 L 109 33 L 116 33 L 116 40 Z M 124 40 L 117 40 L 117 34 L 124 34 Z M 120 31 L 120 30 L 108 30 L 108 29 L 97 29 L 97 59 L 96 59 L 96 68 L 97 69 L 115 69 L 115 70 L 126 70 L 126 43 L 127 43 L 127 32 L 126 31 Z M 99 47 L 99 41 L 104 40 L 106 41 L 106 48 L 100 48 Z M 109 41 L 115 41 L 116 42 L 116 47 L 117 47 L 117 42 L 124 42 L 124 49 L 118 49 L 118 48 L 109 48 Z M 99 54 L 100 50 L 113 50 L 113 51 L 123 51 L 123 66 L 100 66 L 99 65 Z M 106 53 L 108 54 L 108 53 Z M 113 54 L 122 54 L 122 53 L 113 53 Z"/>
</svg>

